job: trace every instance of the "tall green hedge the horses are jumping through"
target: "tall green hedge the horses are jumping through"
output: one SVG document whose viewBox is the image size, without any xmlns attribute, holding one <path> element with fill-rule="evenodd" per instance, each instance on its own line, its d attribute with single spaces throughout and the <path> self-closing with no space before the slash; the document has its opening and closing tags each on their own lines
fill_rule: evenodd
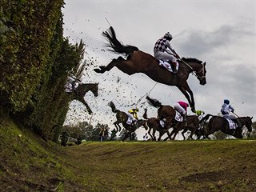
<svg viewBox="0 0 256 192">
<path fill-rule="evenodd" d="M 56 140 L 70 98 L 68 72 L 83 57 L 83 43 L 63 38 L 63 0 L 0 2 L 0 110 Z M 1 115 L 0 114 L 0 117 Z"/>
</svg>

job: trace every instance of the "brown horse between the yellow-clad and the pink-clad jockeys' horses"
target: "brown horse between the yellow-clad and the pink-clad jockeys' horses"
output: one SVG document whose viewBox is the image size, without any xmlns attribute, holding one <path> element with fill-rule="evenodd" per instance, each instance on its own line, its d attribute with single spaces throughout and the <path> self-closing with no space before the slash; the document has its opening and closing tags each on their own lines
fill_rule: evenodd
<svg viewBox="0 0 256 192">
<path fill-rule="evenodd" d="M 149 128 L 148 134 L 150 134 L 150 137 L 153 141 L 156 141 L 155 133 L 156 131 L 159 132 L 159 138 L 158 141 L 161 140 L 163 134 L 168 134 L 170 136 L 169 130 L 165 129 L 165 127 L 162 127 L 160 124 L 159 118 L 148 118 L 146 114 L 147 110 L 145 109 L 145 112 L 143 114 L 143 118 L 147 119 L 147 126 Z M 152 130 L 152 134 L 150 133 Z"/>
</svg>

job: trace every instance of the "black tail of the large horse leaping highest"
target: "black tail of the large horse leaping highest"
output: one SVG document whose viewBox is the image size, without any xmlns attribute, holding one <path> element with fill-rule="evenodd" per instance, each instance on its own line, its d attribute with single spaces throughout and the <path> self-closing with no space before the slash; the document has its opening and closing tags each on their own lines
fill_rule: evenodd
<svg viewBox="0 0 256 192">
<path fill-rule="evenodd" d="M 111 48 L 110 51 L 112 52 L 128 55 L 133 53 L 135 50 L 138 50 L 138 47 L 136 46 L 122 45 L 122 43 L 119 42 L 118 39 L 116 38 L 114 29 L 112 26 L 110 26 L 109 30 L 102 32 L 102 35 L 107 39 L 108 42 L 110 42 L 110 45 L 108 45 L 108 47 Z"/>
</svg>

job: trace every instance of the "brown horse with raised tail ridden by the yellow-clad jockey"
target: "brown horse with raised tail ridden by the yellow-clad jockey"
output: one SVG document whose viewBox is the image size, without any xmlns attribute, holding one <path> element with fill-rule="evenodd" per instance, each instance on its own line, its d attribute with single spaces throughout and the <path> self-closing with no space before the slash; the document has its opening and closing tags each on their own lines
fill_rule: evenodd
<svg viewBox="0 0 256 192">
<path fill-rule="evenodd" d="M 109 102 L 108 105 L 111 107 L 112 112 L 116 113 L 117 121 L 114 122 L 114 126 L 116 127 L 117 132 L 121 131 L 122 129 L 119 125 L 120 123 L 122 123 L 122 126 L 127 130 L 124 138 L 122 138 L 122 142 L 125 141 L 128 136 L 131 140 L 131 134 L 141 126 L 144 126 L 145 130 L 147 130 L 146 120 L 139 119 L 136 123 L 134 123 L 134 125 L 129 125 L 126 123 L 128 120 L 128 115 L 126 114 L 126 112 L 117 110 L 114 106 L 114 102 Z"/>
</svg>

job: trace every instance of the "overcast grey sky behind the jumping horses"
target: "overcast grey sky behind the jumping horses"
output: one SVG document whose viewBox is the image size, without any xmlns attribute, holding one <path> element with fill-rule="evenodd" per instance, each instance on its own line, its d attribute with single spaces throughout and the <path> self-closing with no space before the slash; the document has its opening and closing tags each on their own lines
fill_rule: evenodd
<svg viewBox="0 0 256 192">
<path fill-rule="evenodd" d="M 84 106 L 72 102 L 66 123 L 91 118 L 92 123 L 109 124 L 114 128 L 115 114 L 107 106 L 110 101 L 119 110 L 140 107 L 140 117 L 143 108 L 149 109 L 149 117 L 156 116 L 157 109 L 150 107 L 143 97 L 153 87 L 150 97 L 164 105 L 174 106 L 178 100 L 186 101 L 177 87 L 156 84 L 145 74 L 129 76 L 116 67 L 104 74 L 95 73 L 94 67 L 105 66 L 111 59 L 118 58 L 118 54 L 106 50 L 106 40 L 102 37 L 102 31 L 110 25 L 119 41 L 149 54 L 153 54 L 158 38 L 169 31 L 174 37 L 171 45 L 181 57 L 206 62 L 206 85 L 200 85 L 191 74 L 188 79 L 196 110 L 218 114 L 224 98 L 228 98 L 236 114 L 254 116 L 256 120 L 254 0 L 65 2 L 62 10 L 64 36 L 72 43 L 82 39 L 86 44 L 85 59 L 94 62 L 82 81 L 99 82 L 100 89 L 98 98 L 90 93 L 85 97 L 94 111 L 93 116 L 83 113 Z M 139 138 L 142 132 L 138 131 Z"/>
</svg>

